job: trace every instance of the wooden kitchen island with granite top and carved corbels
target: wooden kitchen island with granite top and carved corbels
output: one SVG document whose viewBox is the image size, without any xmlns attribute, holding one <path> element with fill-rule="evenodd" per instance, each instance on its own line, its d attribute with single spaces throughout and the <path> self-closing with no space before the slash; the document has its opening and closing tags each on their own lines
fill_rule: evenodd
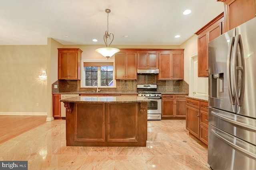
<svg viewBox="0 0 256 170">
<path fill-rule="evenodd" d="M 66 107 L 67 146 L 143 147 L 147 102 L 137 96 L 77 96 Z"/>
</svg>

